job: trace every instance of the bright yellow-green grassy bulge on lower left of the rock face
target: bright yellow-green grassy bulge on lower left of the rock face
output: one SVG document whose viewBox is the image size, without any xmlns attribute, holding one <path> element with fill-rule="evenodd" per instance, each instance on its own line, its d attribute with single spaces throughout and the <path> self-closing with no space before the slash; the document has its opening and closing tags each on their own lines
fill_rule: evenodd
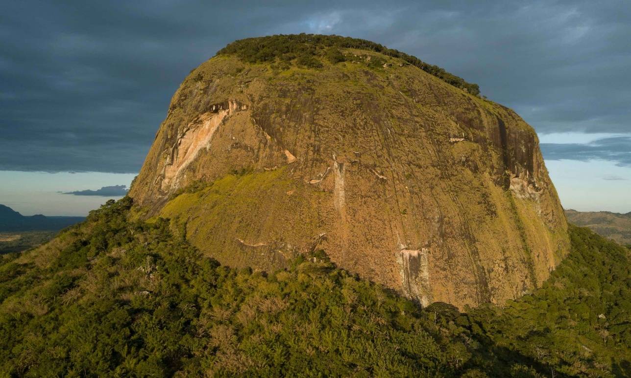
<svg viewBox="0 0 631 378">
<path fill-rule="evenodd" d="M 167 202 L 160 216 L 226 265 L 264 270 L 285 266 L 296 253 L 283 248 L 283 237 L 293 233 L 310 241 L 317 234 L 317 214 L 309 201 L 322 194 L 286 178 L 285 169 L 227 175 L 212 183 L 196 182 L 182 192 Z M 293 226 L 279 227 L 289 224 Z M 258 239 L 260 234 L 268 238 Z"/>
</svg>

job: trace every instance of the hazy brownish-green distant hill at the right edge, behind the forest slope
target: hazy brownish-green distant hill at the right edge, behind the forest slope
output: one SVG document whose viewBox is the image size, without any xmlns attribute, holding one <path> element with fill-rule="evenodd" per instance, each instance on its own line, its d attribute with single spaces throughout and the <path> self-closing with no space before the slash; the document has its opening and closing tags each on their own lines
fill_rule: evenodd
<svg viewBox="0 0 631 378">
<path fill-rule="evenodd" d="M 620 214 L 608 211 L 565 210 L 568 221 L 577 226 L 589 227 L 605 238 L 618 243 L 631 244 L 631 212 Z"/>
</svg>

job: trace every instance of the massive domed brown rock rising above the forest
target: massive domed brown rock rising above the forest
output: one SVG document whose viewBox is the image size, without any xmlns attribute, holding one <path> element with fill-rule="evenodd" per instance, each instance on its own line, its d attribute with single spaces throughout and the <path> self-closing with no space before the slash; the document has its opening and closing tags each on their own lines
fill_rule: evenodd
<svg viewBox="0 0 631 378">
<path fill-rule="evenodd" d="M 524 120 L 408 55 L 309 36 L 295 55 L 269 49 L 278 38 L 242 44 L 271 57 L 237 42 L 191 71 L 131 188 L 136 214 L 232 266 L 324 249 L 423 305 L 546 280 L 567 224 Z"/>
</svg>

